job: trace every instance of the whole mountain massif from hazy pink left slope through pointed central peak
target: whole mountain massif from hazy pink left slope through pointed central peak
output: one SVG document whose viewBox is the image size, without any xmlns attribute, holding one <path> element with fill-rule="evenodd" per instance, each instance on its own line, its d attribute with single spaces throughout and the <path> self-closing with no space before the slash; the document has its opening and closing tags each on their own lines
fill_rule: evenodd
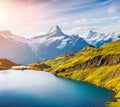
<svg viewBox="0 0 120 107">
<path fill-rule="evenodd" d="M 16 63 L 28 64 L 56 57 L 65 52 L 75 52 L 88 43 L 78 35 L 66 35 L 59 26 L 53 27 L 45 35 L 31 39 L 0 31 L 0 57 Z"/>
</svg>

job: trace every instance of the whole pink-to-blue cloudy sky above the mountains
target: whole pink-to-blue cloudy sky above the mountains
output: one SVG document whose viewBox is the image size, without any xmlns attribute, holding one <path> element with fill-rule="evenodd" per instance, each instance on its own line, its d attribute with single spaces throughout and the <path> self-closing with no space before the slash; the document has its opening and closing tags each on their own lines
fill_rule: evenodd
<svg viewBox="0 0 120 107">
<path fill-rule="evenodd" d="M 56 25 L 82 36 L 120 32 L 120 0 L 0 0 L 0 30 L 31 38 Z"/>
</svg>

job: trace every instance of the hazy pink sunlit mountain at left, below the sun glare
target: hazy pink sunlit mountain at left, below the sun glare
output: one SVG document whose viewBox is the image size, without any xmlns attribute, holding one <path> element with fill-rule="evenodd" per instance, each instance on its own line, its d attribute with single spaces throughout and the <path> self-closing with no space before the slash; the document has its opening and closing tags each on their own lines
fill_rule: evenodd
<svg viewBox="0 0 120 107">
<path fill-rule="evenodd" d="M 15 36 L 8 31 L 0 31 L 0 58 L 8 58 L 24 64 L 35 60 L 27 39 Z"/>
</svg>

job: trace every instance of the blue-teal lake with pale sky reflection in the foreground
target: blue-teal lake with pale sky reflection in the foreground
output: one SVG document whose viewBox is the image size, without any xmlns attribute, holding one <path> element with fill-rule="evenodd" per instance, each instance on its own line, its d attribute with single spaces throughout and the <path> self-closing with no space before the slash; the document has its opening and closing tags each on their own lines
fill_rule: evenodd
<svg viewBox="0 0 120 107">
<path fill-rule="evenodd" d="M 0 71 L 0 107 L 105 107 L 111 91 L 38 71 Z"/>
</svg>

